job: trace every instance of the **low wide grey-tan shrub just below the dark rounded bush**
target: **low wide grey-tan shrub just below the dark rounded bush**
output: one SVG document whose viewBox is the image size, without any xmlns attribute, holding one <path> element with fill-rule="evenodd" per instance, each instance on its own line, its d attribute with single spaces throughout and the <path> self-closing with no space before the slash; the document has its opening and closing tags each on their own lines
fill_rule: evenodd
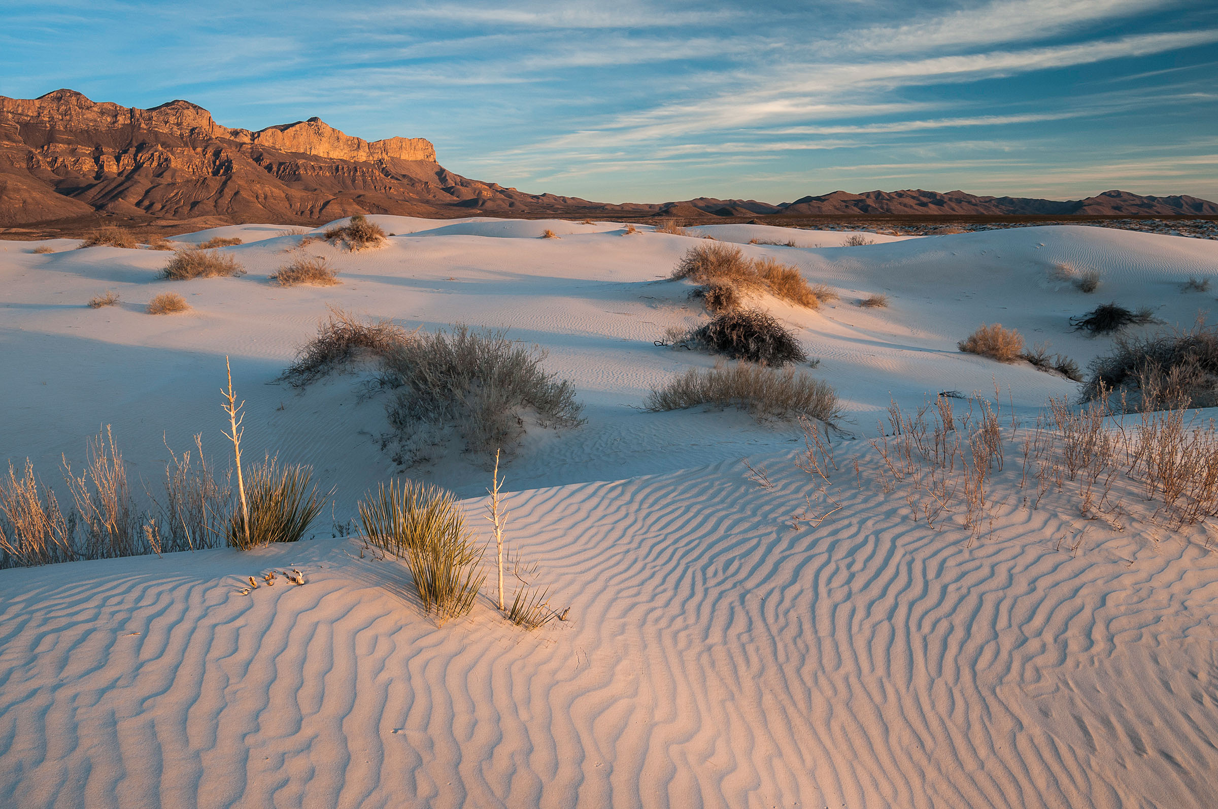
<svg viewBox="0 0 1218 809">
<path fill-rule="evenodd" d="M 752 363 L 689 368 L 648 395 L 648 411 L 676 411 L 698 404 L 738 407 L 758 418 L 800 415 L 833 424 L 840 417 L 837 394 L 827 383 L 794 368 L 777 370 Z"/>
</svg>

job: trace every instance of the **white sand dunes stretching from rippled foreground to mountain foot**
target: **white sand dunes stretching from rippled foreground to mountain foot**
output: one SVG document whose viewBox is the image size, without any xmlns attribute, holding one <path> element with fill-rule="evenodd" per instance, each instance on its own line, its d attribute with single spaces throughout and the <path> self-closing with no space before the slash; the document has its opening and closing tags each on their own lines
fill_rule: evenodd
<svg viewBox="0 0 1218 809">
<path fill-rule="evenodd" d="M 267 283 L 300 240 L 269 225 L 191 234 L 242 238 L 224 251 L 248 274 L 186 283 L 156 280 L 163 252 L 5 242 L 0 457 L 28 456 L 51 481 L 61 453 L 79 459 L 112 424 L 152 485 L 162 434 L 184 447 L 203 433 L 220 451 L 229 355 L 247 452 L 312 463 L 343 521 L 396 472 L 384 402 L 358 401 L 356 376 L 302 394 L 268 384 L 325 303 L 410 328 L 509 328 L 549 351 L 586 407 L 585 426 L 530 435 L 508 465 L 509 540 L 570 620 L 526 634 L 481 601 L 437 627 L 404 568 L 331 537 L 329 514 L 292 546 L 2 570 L 0 805 L 1218 805 L 1205 526 L 1116 531 L 1065 502 L 1029 509 L 1012 463 L 970 546 L 959 528 L 912 521 L 876 484 L 875 452 L 847 440 L 842 509 L 792 528 L 820 496 L 793 464 L 797 431 L 636 409 L 652 385 L 713 363 L 652 345 L 705 317 L 665 280 L 695 238 L 374 219 L 403 235 L 359 253 L 312 246 L 341 270 L 329 289 Z M 536 238 L 547 227 L 561 238 Z M 1067 317 L 1117 300 L 1188 324 L 1213 295 L 1181 281 L 1218 274 L 1212 242 L 1094 228 L 742 249 L 843 295 L 818 312 L 765 305 L 822 359 L 812 373 L 842 395 L 847 433 L 868 436 L 890 397 L 993 397 L 996 381 L 1002 407 L 1029 414 L 1075 390 L 957 352 L 982 322 L 1085 364 L 1111 340 Z M 1099 292 L 1055 280 L 1057 263 L 1100 270 Z M 105 289 L 123 303 L 84 306 Z M 164 290 L 192 312 L 143 313 Z M 871 292 L 890 307 L 853 305 Z M 744 456 L 771 489 L 744 478 Z M 480 463 L 449 453 L 410 474 L 469 497 L 485 532 Z M 240 579 L 291 567 L 306 586 L 241 595 Z"/>
</svg>

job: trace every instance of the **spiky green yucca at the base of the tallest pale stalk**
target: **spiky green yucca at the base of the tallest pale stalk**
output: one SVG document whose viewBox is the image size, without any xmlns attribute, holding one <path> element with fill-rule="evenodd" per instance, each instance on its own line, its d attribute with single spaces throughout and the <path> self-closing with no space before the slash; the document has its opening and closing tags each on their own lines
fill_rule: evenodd
<svg viewBox="0 0 1218 809">
<path fill-rule="evenodd" d="M 325 496 L 309 485 L 313 470 L 304 465 L 279 465 L 278 458 L 266 458 L 248 470 L 246 498 L 250 528 L 240 508 L 229 517 L 228 543 L 248 551 L 270 542 L 296 542 L 313 523 Z"/>
</svg>

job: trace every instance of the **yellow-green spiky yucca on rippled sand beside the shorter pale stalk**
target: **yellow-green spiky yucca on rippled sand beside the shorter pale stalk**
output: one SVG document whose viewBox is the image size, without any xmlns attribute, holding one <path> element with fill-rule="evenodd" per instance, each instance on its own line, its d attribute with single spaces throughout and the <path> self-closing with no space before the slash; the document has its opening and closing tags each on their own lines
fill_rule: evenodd
<svg viewBox="0 0 1218 809">
<path fill-rule="evenodd" d="M 406 559 L 426 613 L 443 623 L 474 607 L 486 579 L 482 552 L 470 543 L 452 492 L 412 480 L 381 484 L 358 509 L 368 541 Z"/>
</svg>

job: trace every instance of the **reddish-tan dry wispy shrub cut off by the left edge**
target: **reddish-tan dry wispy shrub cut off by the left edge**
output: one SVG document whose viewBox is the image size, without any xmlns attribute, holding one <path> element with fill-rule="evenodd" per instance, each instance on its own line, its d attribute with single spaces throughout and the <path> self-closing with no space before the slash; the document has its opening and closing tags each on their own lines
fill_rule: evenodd
<svg viewBox="0 0 1218 809">
<path fill-rule="evenodd" d="M 9 463 L 0 476 L 0 569 L 71 562 L 76 515 L 65 518 L 55 491 L 34 476 L 26 459 L 22 474 Z"/>
</svg>

